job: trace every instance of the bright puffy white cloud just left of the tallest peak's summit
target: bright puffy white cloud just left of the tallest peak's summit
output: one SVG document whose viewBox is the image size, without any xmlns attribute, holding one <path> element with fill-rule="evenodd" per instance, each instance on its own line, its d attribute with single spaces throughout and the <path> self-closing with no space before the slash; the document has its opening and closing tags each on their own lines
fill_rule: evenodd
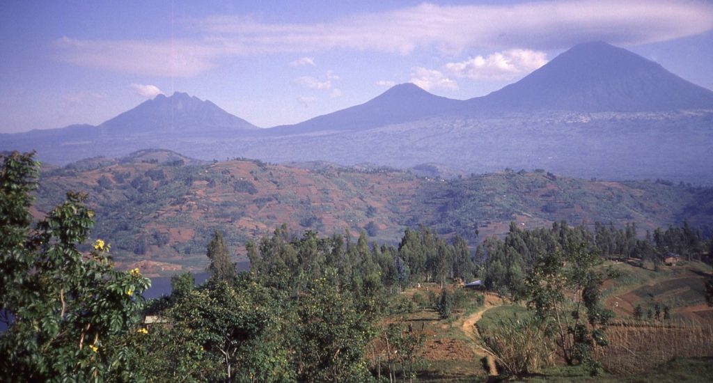
<svg viewBox="0 0 713 383">
<path fill-rule="evenodd" d="M 456 77 L 473 80 L 511 80 L 534 71 L 547 63 L 547 54 L 529 49 L 510 49 L 476 56 L 458 63 L 447 63 L 446 71 Z"/>
</svg>

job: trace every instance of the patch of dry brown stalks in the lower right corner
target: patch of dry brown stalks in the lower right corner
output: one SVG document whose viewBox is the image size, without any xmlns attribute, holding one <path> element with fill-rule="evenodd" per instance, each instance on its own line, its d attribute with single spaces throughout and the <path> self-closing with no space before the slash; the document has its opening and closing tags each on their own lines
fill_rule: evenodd
<svg viewBox="0 0 713 383">
<path fill-rule="evenodd" d="M 607 329 L 608 347 L 595 357 L 614 374 L 638 374 L 676 357 L 713 356 L 713 327 L 674 321 L 665 325 L 620 322 Z"/>
</svg>

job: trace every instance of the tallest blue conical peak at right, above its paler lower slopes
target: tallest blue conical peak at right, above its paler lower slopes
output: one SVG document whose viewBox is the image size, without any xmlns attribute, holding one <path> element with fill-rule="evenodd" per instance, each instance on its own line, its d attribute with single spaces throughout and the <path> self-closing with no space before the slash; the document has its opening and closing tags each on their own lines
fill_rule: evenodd
<svg viewBox="0 0 713 383">
<path fill-rule="evenodd" d="M 603 42 L 579 44 L 522 80 L 468 100 L 471 111 L 672 111 L 713 108 L 713 91 Z"/>
</svg>

